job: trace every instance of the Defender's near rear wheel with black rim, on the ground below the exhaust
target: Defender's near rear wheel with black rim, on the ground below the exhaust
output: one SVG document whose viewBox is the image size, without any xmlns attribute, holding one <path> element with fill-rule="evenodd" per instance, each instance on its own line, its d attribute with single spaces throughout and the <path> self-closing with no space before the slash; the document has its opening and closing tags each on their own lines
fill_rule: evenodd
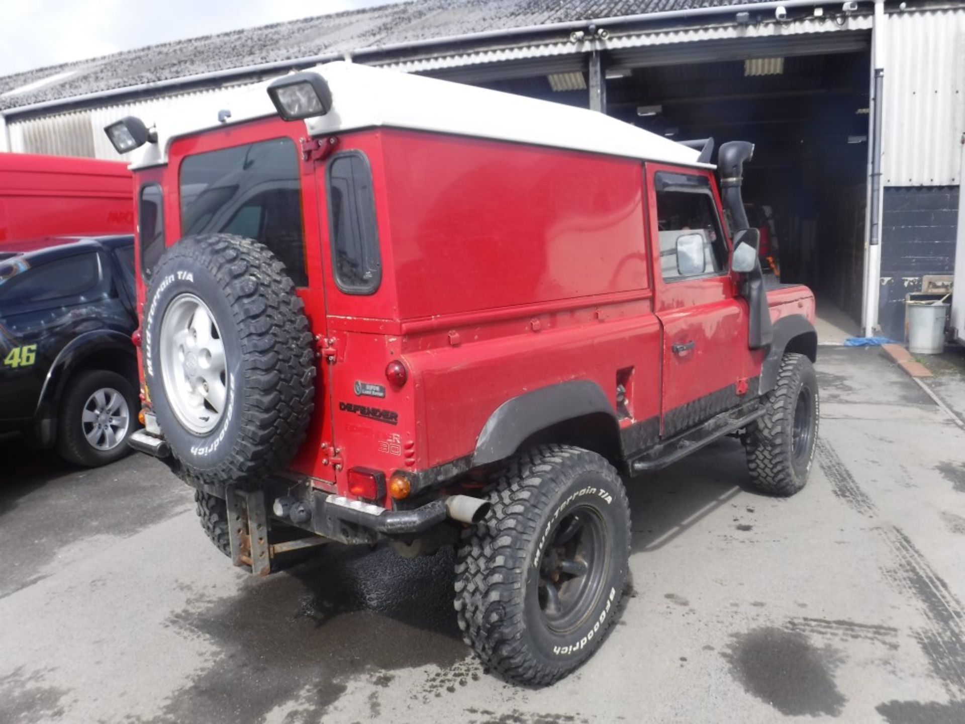
<svg viewBox="0 0 965 724">
<path fill-rule="evenodd" d="M 550 684 L 590 658 L 617 615 L 626 492 L 606 459 L 565 445 L 510 459 L 493 481 L 489 513 L 459 542 L 456 618 L 484 665 L 511 682 Z"/>
</svg>

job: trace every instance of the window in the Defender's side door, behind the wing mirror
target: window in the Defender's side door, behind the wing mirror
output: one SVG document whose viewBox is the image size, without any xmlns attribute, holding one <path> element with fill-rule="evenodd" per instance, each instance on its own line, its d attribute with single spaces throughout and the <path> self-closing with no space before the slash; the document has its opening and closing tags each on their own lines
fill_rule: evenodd
<svg viewBox="0 0 965 724">
<path fill-rule="evenodd" d="M 659 172 L 654 186 L 664 280 L 724 273 L 727 244 L 706 177 Z"/>
</svg>

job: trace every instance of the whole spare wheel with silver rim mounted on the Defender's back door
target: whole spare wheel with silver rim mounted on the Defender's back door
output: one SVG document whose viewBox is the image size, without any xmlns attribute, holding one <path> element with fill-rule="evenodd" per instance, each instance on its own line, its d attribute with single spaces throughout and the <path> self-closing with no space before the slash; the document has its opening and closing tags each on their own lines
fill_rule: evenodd
<svg viewBox="0 0 965 724">
<path fill-rule="evenodd" d="M 274 254 L 226 234 L 180 239 L 156 267 L 143 327 L 152 410 L 182 475 L 223 485 L 289 461 L 312 417 L 315 352 Z"/>
</svg>

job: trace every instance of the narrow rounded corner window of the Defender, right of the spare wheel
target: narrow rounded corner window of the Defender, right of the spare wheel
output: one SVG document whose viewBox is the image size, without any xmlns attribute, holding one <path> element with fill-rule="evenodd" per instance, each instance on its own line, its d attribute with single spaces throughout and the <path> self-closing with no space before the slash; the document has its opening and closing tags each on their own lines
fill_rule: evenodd
<svg viewBox="0 0 965 724">
<path fill-rule="evenodd" d="M 349 294 L 371 294 L 382 280 L 382 261 L 369 159 L 358 151 L 339 153 L 326 175 L 335 283 Z"/>
</svg>

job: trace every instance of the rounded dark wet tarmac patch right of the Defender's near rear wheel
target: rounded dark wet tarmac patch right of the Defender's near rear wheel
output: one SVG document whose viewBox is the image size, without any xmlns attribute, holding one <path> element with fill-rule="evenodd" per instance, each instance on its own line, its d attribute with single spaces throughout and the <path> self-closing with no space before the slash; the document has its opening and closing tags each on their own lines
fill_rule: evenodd
<svg viewBox="0 0 965 724">
<path fill-rule="evenodd" d="M 722 655 L 744 690 L 787 716 L 837 716 L 845 699 L 834 672 L 841 654 L 818 649 L 806 635 L 777 627 L 755 628 L 734 636 Z"/>
</svg>

